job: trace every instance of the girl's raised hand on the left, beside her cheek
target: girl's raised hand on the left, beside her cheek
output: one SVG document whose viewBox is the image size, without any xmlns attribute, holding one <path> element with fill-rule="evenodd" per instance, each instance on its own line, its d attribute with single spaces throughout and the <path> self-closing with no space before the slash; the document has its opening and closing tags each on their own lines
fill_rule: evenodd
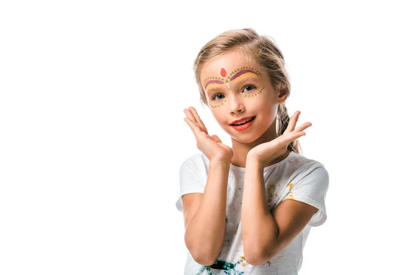
<svg viewBox="0 0 413 275">
<path fill-rule="evenodd" d="M 193 135 L 195 135 L 196 146 L 208 157 L 209 161 L 231 162 L 233 157 L 232 149 L 223 144 L 217 135 L 209 136 L 207 127 L 205 127 L 195 108 L 189 107 L 184 109 L 184 113 L 187 115 L 187 118 L 184 118 L 184 120 L 191 127 Z"/>
</svg>

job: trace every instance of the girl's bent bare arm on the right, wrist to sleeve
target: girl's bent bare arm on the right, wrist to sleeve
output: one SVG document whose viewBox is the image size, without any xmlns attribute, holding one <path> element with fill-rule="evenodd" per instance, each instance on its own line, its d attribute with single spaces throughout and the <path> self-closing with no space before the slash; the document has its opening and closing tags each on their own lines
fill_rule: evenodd
<svg viewBox="0 0 413 275">
<path fill-rule="evenodd" d="M 247 159 L 241 220 L 244 256 L 251 265 L 262 265 L 284 250 L 317 211 L 306 203 L 287 199 L 270 212 L 263 174 L 262 164 Z"/>
</svg>

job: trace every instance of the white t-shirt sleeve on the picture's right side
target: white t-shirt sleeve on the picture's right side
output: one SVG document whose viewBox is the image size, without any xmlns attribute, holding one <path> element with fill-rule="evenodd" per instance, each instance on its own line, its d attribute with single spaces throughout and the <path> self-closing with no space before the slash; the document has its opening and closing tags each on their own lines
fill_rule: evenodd
<svg viewBox="0 0 413 275">
<path fill-rule="evenodd" d="M 318 208 L 308 225 L 319 226 L 327 220 L 326 194 L 329 185 L 328 171 L 324 166 L 308 169 L 301 179 L 293 183 L 285 199 L 302 201 Z"/>
</svg>

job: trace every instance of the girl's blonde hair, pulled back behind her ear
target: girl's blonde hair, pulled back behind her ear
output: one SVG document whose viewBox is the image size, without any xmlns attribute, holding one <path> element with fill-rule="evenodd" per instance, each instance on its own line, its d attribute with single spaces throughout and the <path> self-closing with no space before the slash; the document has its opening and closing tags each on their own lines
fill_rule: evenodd
<svg viewBox="0 0 413 275">
<path fill-rule="evenodd" d="M 234 50 L 240 50 L 248 60 L 251 58 L 265 69 L 274 87 L 281 85 L 282 91 L 290 96 L 290 78 L 286 71 L 284 56 L 277 47 L 277 43 L 270 36 L 260 36 L 251 28 L 242 30 L 230 30 L 219 34 L 209 41 L 198 53 L 193 63 L 195 80 L 200 90 L 201 104 L 208 105 L 207 96 L 201 81 L 202 65 L 215 56 L 226 54 Z M 279 104 L 277 111 L 277 136 L 286 131 L 290 117 L 285 102 Z M 301 154 L 301 146 L 298 140 L 288 144 L 288 150 Z"/>
</svg>

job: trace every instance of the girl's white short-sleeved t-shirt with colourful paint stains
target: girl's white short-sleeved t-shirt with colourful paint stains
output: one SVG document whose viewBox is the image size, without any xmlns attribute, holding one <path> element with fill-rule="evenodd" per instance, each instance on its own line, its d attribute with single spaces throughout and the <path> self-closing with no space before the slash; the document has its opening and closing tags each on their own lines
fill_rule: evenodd
<svg viewBox="0 0 413 275">
<path fill-rule="evenodd" d="M 208 178 L 209 159 L 198 153 L 186 159 L 180 167 L 180 195 L 176 208 L 182 210 L 182 195 L 204 193 Z M 303 155 L 290 152 L 281 162 L 264 167 L 264 183 L 268 209 L 273 210 L 284 199 L 303 201 L 319 210 L 306 228 L 284 250 L 263 265 L 250 265 L 244 258 L 241 230 L 241 203 L 245 168 L 230 164 L 226 198 L 226 225 L 222 250 L 213 265 L 200 265 L 188 252 L 185 275 L 244 274 L 293 275 L 298 274 L 303 261 L 303 249 L 311 227 L 327 219 L 326 192 L 328 172 L 324 165 Z"/>
</svg>

